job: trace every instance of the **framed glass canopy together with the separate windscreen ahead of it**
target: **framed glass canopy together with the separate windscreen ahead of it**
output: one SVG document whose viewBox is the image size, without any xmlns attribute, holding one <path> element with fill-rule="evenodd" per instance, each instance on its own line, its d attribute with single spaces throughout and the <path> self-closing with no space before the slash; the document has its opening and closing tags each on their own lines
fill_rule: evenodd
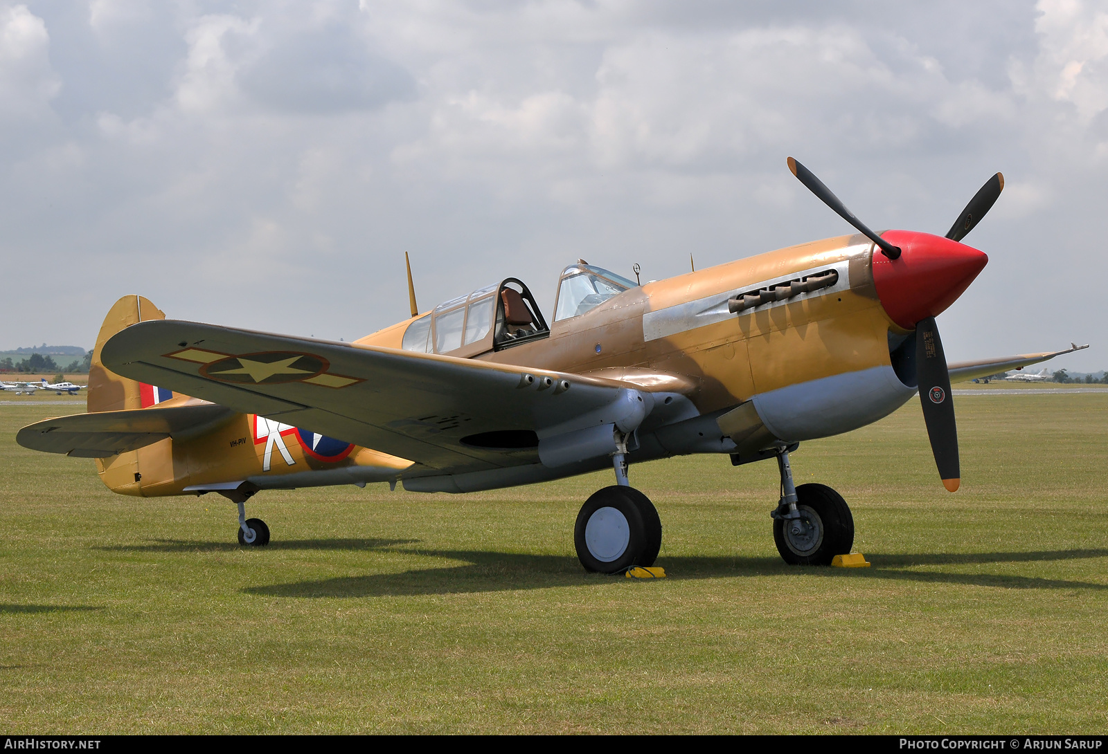
<svg viewBox="0 0 1108 754">
<path fill-rule="evenodd" d="M 579 317 L 637 285 L 578 259 L 558 277 L 554 321 Z M 469 358 L 548 335 L 550 326 L 531 290 L 522 280 L 506 278 L 443 301 L 414 320 L 404 331 L 401 348 Z"/>
</svg>

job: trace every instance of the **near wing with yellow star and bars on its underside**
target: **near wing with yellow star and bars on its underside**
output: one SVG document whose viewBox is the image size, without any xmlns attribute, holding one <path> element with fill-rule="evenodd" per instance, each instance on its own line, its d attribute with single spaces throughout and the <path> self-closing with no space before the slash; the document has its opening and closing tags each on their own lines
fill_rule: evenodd
<svg viewBox="0 0 1108 754">
<path fill-rule="evenodd" d="M 640 419 L 653 403 L 613 380 L 177 320 L 122 330 L 101 359 L 123 376 L 438 473 L 533 464 L 544 437 Z"/>
</svg>

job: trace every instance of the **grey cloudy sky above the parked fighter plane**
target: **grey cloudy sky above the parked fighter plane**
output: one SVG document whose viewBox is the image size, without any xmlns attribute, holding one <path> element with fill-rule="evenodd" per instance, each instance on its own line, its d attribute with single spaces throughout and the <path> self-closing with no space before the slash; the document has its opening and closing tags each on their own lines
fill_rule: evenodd
<svg viewBox="0 0 1108 754">
<path fill-rule="evenodd" d="M 583 257 L 664 278 L 865 223 L 989 265 L 952 360 L 1108 366 L 1108 2 L 0 0 L 0 349 L 173 318 L 350 340 Z"/>
</svg>

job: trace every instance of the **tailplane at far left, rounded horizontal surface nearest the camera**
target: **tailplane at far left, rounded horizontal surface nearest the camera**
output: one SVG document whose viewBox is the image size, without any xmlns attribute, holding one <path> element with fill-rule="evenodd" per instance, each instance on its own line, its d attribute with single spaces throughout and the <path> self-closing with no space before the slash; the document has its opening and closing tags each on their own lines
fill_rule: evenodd
<svg viewBox="0 0 1108 754">
<path fill-rule="evenodd" d="M 103 411 L 35 422 L 16 435 L 23 447 L 78 458 L 106 458 L 166 437 L 192 436 L 235 415 L 212 403 Z"/>
</svg>

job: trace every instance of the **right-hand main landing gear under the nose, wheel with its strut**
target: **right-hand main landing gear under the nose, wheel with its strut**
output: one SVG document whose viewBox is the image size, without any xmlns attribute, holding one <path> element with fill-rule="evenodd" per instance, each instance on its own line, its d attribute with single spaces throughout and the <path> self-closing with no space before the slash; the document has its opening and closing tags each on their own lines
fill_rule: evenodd
<svg viewBox="0 0 1108 754">
<path fill-rule="evenodd" d="M 830 566 L 831 558 L 854 546 L 854 517 L 842 495 L 822 484 L 792 483 L 789 451 L 777 454 L 781 502 L 770 513 L 773 541 L 791 566 Z"/>
</svg>

